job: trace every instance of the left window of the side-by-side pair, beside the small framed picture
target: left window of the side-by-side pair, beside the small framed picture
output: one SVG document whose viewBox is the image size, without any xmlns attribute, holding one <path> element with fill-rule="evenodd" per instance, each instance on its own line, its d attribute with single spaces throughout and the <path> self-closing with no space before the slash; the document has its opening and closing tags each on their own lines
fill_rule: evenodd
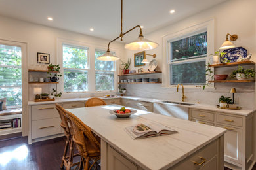
<svg viewBox="0 0 256 170">
<path fill-rule="evenodd" d="M 88 91 L 89 48 L 64 44 L 64 92 Z"/>
</svg>

